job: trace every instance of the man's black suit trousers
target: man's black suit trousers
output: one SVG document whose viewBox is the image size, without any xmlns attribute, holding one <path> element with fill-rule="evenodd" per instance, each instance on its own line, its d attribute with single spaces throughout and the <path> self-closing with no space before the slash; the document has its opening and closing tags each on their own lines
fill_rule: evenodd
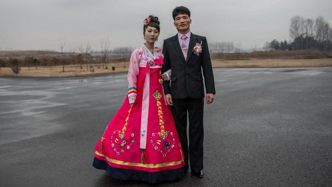
<svg viewBox="0 0 332 187">
<path fill-rule="evenodd" d="M 204 98 L 172 99 L 172 114 L 185 156 L 185 168 L 192 171 L 203 169 L 203 113 Z M 187 139 L 187 111 L 189 116 L 189 149 Z"/>
</svg>

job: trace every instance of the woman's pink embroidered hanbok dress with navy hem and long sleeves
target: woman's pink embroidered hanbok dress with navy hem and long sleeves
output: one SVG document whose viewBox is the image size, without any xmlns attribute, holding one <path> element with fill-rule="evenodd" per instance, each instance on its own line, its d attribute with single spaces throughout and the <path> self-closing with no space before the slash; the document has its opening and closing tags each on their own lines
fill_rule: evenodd
<svg viewBox="0 0 332 187">
<path fill-rule="evenodd" d="M 184 155 L 161 79 L 162 49 L 130 58 L 128 94 L 95 147 L 93 166 L 111 177 L 158 183 L 184 175 Z M 132 106 L 130 105 L 132 104 Z"/>
</svg>

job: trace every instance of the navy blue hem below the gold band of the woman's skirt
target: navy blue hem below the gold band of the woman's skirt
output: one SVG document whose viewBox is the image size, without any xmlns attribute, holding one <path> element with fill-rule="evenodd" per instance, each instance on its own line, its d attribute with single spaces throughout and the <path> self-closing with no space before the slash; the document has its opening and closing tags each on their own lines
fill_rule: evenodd
<svg viewBox="0 0 332 187">
<path fill-rule="evenodd" d="M 105 160 L 94 158 L 93 167 L 106 170 L 112 178 L 123 180 L 139 180 L 149 183 L 159 183 L 163 181 L 179 180 L 184 175 L 184 166 L 178 169 L 169 169 L 157 172 L 148 172 L 133 169 L 121 169 L 112 167 Z"/>
</svg>

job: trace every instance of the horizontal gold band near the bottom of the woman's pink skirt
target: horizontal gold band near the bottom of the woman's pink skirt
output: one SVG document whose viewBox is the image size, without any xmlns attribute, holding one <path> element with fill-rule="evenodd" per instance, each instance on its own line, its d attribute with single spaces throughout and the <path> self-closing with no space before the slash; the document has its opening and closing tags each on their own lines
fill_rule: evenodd
<svg viewBox="0 0 332 187">
<path fill-rule="evenodd" d="M 96 151 L 95 153 L 99 156 L 105 157 L 109 162 L 114 163 L 114 164 L 126 165 L 126 166 L 138 166 L 138 167 L 145 167 L 145 168 L 159 168 L 159 167 L 165 167 L 165 166 L 174 166 L 174 165 L 179 165 L 184 161 L 183 157 L 181 156 L 180 161 L 162 162 L 162 163 L 158 163 L 158 164 L 146 164 L 146 163 L 125 162 L 125 161 L 121 161 L 121 160 L 108 158 L 107 156 L 99 153 L 98 151 Z"/>
</svg>

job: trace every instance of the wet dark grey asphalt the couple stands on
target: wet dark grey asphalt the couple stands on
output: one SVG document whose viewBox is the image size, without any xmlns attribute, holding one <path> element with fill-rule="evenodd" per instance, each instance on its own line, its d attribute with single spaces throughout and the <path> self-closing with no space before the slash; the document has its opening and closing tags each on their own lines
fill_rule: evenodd
<svg viewBox="0 0 332 187">
<path fill-rule="evenodd" d="M 332 68 L 214 69 L 204 177 L 158 186 L 332 186 Z M 0 186 L 153 186 L 92 167 L 125 74 L 0 78 Z"/>
</svg>

